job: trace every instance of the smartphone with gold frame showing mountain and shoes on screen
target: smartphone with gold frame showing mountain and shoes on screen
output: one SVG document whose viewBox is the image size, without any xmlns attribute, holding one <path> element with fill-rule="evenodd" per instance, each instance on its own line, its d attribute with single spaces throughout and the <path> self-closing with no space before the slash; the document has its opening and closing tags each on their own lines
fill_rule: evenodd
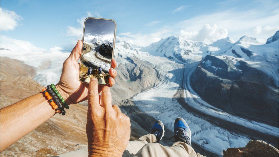
<svg viewBox="0 0 279 157">
<path fill-rule="evenodd" d="M 88 17 L 84 21 L 79 81 L 89 84 L 92 77 L 98 84 L 109 84 L 109 68 L 113 59 L 116 23 L 111 19 Z"/>
</svg>

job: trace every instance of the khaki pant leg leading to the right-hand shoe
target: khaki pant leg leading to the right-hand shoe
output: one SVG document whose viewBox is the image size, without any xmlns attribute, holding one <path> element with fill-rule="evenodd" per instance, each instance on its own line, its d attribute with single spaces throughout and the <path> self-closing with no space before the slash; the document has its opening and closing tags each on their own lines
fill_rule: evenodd
<svg viewBox="0 0 279 157">
<path fill-rule="evenodd" d="M 184 143 L 175 142 L 171 147 L 163 146 L 159 143 L 148 143 L 142 147 L 134 156 L 197 156 L 194 149 Z"/>
</svg>

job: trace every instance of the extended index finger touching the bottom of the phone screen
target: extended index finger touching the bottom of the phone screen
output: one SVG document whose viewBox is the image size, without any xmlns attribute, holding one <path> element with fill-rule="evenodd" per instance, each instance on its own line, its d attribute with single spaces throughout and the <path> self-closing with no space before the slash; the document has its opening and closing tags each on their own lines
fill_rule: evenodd
<svg viewBox="0 0 279 157">
<path fill-rule="evenodd" d="M 101 107 L 99 103 L 98 80 L 92 77 L 88 87 L 88 110 Z"/>
</svg>

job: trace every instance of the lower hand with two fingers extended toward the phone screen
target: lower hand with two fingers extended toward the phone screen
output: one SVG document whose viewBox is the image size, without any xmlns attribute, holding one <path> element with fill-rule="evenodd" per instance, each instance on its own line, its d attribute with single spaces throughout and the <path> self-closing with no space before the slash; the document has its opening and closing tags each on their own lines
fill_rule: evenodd
<svg viewBox="0 0 279 157">
<path fill-rule="evenodd" d="M 130 138 L 130 119 L 117 105 L 111 105 L 109 87 L 101 96 L 98 80 L 92 78 L 88 90 L 86 134 L 89 156 L 122 156 Z"/>
</svg>

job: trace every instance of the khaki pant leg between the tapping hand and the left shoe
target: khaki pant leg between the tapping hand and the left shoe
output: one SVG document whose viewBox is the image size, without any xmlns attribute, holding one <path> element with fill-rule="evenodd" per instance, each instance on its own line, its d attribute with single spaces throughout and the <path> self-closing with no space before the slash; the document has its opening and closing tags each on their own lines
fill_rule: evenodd
<svg viewBox="0 0 279 157">
<path fill-rule="evenodd" d="M 144 135 L 137 141 L 129 141 L 122 157 L 131 157 L 136 154 L 144 145 L 152 142 L 156 142 L 156 136 L 154 134 Z"/>
</svg>

